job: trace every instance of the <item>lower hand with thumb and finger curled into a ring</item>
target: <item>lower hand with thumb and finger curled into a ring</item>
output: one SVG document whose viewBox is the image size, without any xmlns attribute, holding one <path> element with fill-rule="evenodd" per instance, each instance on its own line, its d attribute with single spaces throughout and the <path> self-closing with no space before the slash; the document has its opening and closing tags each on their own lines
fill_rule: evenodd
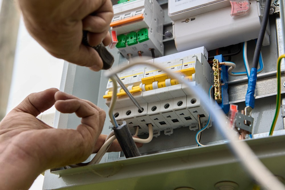
<svg viewBox="0 0 285 190">
<path fill-rule="evenodd" d="M 56 129 L 36 118 L 52 105 L 76 113 L 81 124 L 76 130 Z M 1 189 L 28 189 L 42 171 L 86 160 L 105 141 L 100 135 L 105 117 L 93 103 L 58 89 L 30 94 L 0 122 Z M 121 151 L 116 141 L 110 148 Z"/>
</svg>

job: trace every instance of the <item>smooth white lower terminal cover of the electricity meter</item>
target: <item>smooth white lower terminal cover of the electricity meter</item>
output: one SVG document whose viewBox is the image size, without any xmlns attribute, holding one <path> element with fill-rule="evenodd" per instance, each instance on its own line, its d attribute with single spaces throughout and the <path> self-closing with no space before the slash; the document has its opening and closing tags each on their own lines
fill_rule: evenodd
<svg viewBox="0 0 285 190">
<path fill-rule="evenodd" d="M 184 1 L 184 0 L 183 0 Z M 251 0 L 247 15 L 231 17 L 231 6 L 195 15 L 189 22 L 185 18 L 173 22 L 173 37 L 178 52 L 205 46 L 207 50 L 238 44 L 258 38 L 262 9 Z M 263 46 L 269 45 L 269 24 Z"/>
</svg>

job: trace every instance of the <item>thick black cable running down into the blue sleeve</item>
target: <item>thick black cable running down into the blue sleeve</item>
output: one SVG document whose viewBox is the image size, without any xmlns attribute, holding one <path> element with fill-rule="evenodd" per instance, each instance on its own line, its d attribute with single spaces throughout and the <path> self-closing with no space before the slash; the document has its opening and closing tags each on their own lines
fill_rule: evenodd
<svg viewBox="0 0 285 190">
<path fill-rule="evenodd" d="M 271 0 L 266 0 L 264 13 L 263 13 L 263 19 L 262 19 L 262 23 L 261 23 L 261 26 L 260 26 L 260 31 L 259 31 L 259 34 L 258 34 L 258 38 L 257 38 L 256 46 L 255 46 L 255 51 L 254 51 L 254 55 L 253 55 L 252 68 L 256 68 L 257 69 L 257 67 L 258 67 L 258 60 L 259 60 L 259 56 L 260 56 L 262 42 L 263 42 L 263 39 L 264 39 L 264 34 L 265 34 L 265 31 L 266 31 L 266 26 L 267 26 L 267 23 L 268 23 L 270 7 L 271 7 Z"/>
</svg>

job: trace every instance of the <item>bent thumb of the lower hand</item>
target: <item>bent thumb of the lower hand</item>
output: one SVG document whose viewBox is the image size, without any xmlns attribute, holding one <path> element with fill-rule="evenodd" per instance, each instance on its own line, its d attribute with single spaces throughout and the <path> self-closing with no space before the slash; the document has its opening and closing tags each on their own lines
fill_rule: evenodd
<svg viewBox="0 0 285 190">
<path fill-rule="evenodd" d="M 13 110 L 29 113 L 36 117 L 40 113 L 46 111 L 47 109 L 51 108 L 54 105 L 55 103 L 54 94 L 57 91 L 58 89 L 56 88 L 50 88 L 38 93 L 32 93 L 28 95 Z"/>
</svg>

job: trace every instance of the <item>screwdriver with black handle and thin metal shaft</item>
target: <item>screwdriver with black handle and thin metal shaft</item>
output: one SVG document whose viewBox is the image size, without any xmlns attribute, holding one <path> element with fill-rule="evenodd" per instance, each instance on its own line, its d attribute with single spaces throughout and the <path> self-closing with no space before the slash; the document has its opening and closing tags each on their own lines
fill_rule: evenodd
<svg viewBox="0 0 285 190">
<path fill-rule="evenodd" d="M 87 33 L 88 33 L 88 31 L 83 30 L 82 44 L 85 46 L 92 47 L 93 49 L 95 49 L 98 52 L 100 58 L 103 61 L 103 68 L 102 68 L 103 70 L 110 69 L 114 63 L 113 55 L 107 50 L 107 48 L 104 46 L 104 44 L 102 42 L 101 42 L 101 44 L 99 44 L 97 46 L 90 46 L 88 43 L 88 40 L 87 40 Z M 115 79 L 119 83 L 119 85 L 122 87 L 122 89 L 126 92 L 126 94 L 131 99 L 131 101 L 137 106 L 137 108 L 139 108 L 140 111 L 143 112 L 143 108 L 139 105 L 137 100 L 133 97 L 133 95 L 130 93 L 129 89 L 125 86 L 125 84 L 119 78 L 119 76 L 117 74 L 115 74 Z"/>
</svg>

